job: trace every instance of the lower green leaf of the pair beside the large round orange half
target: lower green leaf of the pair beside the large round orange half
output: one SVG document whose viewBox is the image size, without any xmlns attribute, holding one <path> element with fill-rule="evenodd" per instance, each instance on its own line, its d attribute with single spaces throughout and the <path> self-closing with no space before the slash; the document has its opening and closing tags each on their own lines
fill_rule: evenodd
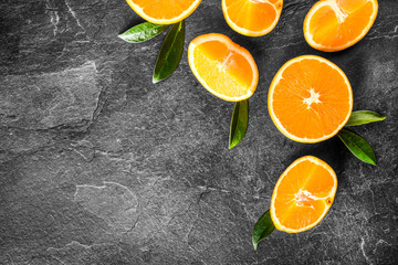
<svg viewBox="0 0 398 265">
<path fill-rule="evenodd" d="M 364 162 L 376 166 L 375 152 L 364 138 L 347 129 L 342 129 L 337 136 L 354 156 Z"/>
</svg>

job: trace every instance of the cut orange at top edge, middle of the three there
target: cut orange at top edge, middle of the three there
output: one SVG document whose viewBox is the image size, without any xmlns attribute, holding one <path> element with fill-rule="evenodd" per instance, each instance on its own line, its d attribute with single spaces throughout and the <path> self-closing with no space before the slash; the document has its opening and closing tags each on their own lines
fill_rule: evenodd
<svg viewBox="0 0 398 265">
<path fill-rule="evenodd" d="M 222 0 L 222 12 L 238 33 L 260 36 L 275 28 L 282 6 L 283 0 Z"/>
</svg>

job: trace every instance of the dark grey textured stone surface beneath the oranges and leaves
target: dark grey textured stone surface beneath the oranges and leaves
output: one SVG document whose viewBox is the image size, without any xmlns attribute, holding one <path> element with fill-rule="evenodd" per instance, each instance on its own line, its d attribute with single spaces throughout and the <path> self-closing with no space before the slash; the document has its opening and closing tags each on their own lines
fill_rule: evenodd
<svg viewBox="0 0 398 265">
<path fill-rule="evenodd" d="M 233 150 L 233 104 L 200 86 L 186 52 L 153 85 L 165 35 L 117 38 L 143 21 L 124 0 L 0 2 L 0 264 L 398 264 L 398 1 L 379 0 L 368 35 L 333 54 L 304 40 L 314 0 L 285 0 L 275 30 L 256 39 L 233 32 L 220 2 L 203 0 L 187 19 L 186 47 L 220 32 L 259 65 L 249 131 Z M 268 87 L 302 54 L 345 71 L 354 109 L 387 116 L 355 128 L 377 167 L 336 138 L 303 145 L 277 131 Z M 334 205 L 315 229 L 275 232 L 254 252 L 256 219 L 304 155 L 335 169 Z"/>
</svg>

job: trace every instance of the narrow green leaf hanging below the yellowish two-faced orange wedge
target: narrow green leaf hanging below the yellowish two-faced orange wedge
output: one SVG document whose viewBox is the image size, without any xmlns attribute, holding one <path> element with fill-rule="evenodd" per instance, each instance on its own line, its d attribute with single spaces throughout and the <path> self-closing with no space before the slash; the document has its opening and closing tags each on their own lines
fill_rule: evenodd
<svg viewBox="0 0 398 265">
<path fill-rule="evenodd" d="M 237 102 L 230 127 L 229 149 L 235 147 L 244 137 L 249 124 L 249 99 Z"/>
</svg>

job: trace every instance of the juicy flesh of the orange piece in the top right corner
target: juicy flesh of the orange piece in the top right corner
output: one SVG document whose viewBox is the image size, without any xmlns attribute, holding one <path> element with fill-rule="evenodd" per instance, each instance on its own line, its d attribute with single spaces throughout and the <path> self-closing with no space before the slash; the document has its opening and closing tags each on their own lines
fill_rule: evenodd
<svg viewBox="0 0 398 265">
<path fill-rule="evenodd" d="M 375 12 L 369 0 L 335 1 L 337 11 L 332 6 L 324 6 L 310 20 L 312 41 L 331 49 L 355 43 L 358 38 L 360 40 L 364 30 L 369 28 L 369 23 L 373 24 L 371 15 Z"/>
</svg>

